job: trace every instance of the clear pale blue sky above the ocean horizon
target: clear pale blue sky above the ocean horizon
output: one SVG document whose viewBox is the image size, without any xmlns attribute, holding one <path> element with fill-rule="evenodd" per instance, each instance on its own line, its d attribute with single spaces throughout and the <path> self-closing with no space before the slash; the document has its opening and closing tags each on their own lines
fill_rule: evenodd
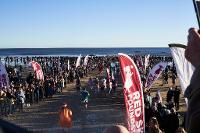
<svg viewBox="0 0 200 133">
<path fill-rule="evenodd" d="M 192 0 L 0 0 L 0 48 L 168 47 L 190 27 Z"/>
</svg>

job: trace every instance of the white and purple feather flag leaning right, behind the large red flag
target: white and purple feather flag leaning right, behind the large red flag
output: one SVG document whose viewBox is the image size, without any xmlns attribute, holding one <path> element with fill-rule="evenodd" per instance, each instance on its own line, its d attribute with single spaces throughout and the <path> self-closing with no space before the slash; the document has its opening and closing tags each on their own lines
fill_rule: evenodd
<svg viewBox="0 0 200 133">
<path fill-rule="evenodd" d="M 153 85 L 153 83 L 156 81 L 156 79 L 160 76 L 163 70 L 165 70 L 166 66 L 168 65 L 167 62 L 160 62 L 156 64 L 149 72 L 145 88 L 149 89 Z"/>
</svg>

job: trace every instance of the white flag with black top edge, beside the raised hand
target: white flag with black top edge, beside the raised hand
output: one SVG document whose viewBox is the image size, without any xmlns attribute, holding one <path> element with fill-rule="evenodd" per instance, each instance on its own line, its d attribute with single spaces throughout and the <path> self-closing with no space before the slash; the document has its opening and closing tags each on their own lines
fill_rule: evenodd
<svg viewBox="0 0 200 133">
<path fill-rule="evenodd" d="M 176 66 L 177 75 L 180 80 L 181 89 L 184 94 L 187 86 L 190 84 L 190 79 L 194 72 L 193 65 L 185 58 L 185 45 L 169 44 L 174 64 Z"/>
</svg>

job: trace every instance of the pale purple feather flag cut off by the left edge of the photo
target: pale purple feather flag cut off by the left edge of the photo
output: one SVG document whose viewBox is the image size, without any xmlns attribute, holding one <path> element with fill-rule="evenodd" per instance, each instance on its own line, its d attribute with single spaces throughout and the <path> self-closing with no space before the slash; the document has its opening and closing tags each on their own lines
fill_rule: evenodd
<svg viewBox="0 0 200 133">
<path fill-rule="evenodd" d="M 0 89 L 1 88 L 8 88 L 8 86 L 9 86 L 8 73 L 6 71 L 5 66 L 0 61 Z"/>
</svg>

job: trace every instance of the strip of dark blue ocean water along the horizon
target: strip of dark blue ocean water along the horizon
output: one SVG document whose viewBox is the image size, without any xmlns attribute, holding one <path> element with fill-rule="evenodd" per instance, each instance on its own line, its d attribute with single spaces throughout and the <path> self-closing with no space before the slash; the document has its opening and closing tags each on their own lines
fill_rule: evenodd
<svg viewBox="0 0 200 133">
<path fill-rule="evenodd" d="M 170 56 L 169 48 L 9 48 L 0 49 L 0 56 L 82 56 L 86 55 L 161 55 Z"/>
</svg>

